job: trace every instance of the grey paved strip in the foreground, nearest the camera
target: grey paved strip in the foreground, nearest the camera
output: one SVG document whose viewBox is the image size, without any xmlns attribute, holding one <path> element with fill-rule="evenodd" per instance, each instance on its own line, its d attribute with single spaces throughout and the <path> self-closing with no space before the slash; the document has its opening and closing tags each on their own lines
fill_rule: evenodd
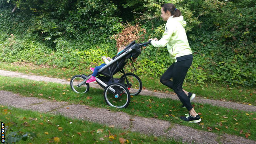
<svg viewBox="0 0 256 144">
<path fill-rule="evenodd" d="M 50 101 L 35 97 L 23 97 L 9 91 L 0 91 L 0 99 L 0 105 L 8 105 L 39 112 L 49 112 L 52 114 L 62 114 L 66 117 L 77 119 L 83 118 L 87 121 L 114 125 L 117 128 L 126 127 L 131 131 L 137 131 L 144 134 L 166 136 L 177 140 L 182 139 L 183 142 L 188 143 L 256 144 L 256 141 L 235 135 L 217 135 L 215 133 L 181 126 L 169 121 L 131 116 L 123 112 L 111 112 L 107 109 L 93 108 L 86 105 L 72 105 L 68 102 Z M 66 107 L 69 107 L 69 109 Z M 133 121 L 130 119 L 133 119 Z"/>
</svg>

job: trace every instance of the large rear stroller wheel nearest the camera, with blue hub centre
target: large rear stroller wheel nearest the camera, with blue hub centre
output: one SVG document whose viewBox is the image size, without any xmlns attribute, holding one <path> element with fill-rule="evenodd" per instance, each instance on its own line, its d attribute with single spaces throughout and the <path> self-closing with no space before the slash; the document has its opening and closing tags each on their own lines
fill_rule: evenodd
<svg viewBox="0 0 256 144">
<path fill-rule="evenodd" d="M 124 85 L 113 82 L 105 87 L 104 98 L 107 105 L 126 108 L 130 103 L 130 92 Z"/>
</svg>

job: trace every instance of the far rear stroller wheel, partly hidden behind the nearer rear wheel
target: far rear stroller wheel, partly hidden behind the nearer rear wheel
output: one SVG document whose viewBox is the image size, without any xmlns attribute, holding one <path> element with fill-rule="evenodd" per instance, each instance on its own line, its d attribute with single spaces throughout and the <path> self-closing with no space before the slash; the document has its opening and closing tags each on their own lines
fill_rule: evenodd
<svg viewBox="0 0 256 144">
<path fill-rule="evenodd" d="M 121 78 L 125 78 L 124 75 Z M 129 89 L 130 95 L 137 96 L 142 91 L 142 81 L 134 73 L 126 73 L 126 78 L 124 85 Z"/>
</svg>

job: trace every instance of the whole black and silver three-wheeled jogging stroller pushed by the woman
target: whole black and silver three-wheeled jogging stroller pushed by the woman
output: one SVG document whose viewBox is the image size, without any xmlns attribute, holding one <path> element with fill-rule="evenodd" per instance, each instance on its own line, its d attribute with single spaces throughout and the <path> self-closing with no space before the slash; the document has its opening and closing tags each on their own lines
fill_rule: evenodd
<svg viewBox="0 0 256 144">
<path fill-rule="evenodd" d="M 98 85 L 105 89 L 104 98 L 107 105 L 126 108 L 130 103 L 130 95 L 136 96 L 141 92 L 142 81 L 140 78 L 134 73 L 125 73 L 123 68 L 129 59 L 132 61 L 131 58 L 135 59 L 140 55 L 142 46 L 147 46 L 149 43 L 131 42 L 121 53 L 114 56 L 109 64 L 98 71 L 96 81 Z M 120 78 L 114 78 L 113 75 L 117 72 L 121 72 L 123 75 Z M 76 93 L 87 93 L 89 84 L 86 81 L 89 78 L 91 78 L 91 74 L 73 76 L 70 81 L 71 89 Z"/>
</svg>

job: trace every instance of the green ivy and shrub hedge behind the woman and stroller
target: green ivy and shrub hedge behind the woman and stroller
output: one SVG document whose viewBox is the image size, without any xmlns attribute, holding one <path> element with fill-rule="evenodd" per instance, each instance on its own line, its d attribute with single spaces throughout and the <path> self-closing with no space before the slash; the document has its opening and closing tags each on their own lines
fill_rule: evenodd
<svg viewBox="0 0 256 144">
<path fill-rule="evenodd" d="M 146 30 L 137 42 L 160 39 L 160 6 L 167 2 L 187 21 L 194 52 L 187 81 L 256 85 L 255 0 L 0 0 L 0 61 L 96 66 L 102 55 L 115 55 L 113 35 L 125 23 Z M 166 48 L 148 46 L 136 66 L 142 75 L 160 77 L 171 63 Z"/>
</svg>

